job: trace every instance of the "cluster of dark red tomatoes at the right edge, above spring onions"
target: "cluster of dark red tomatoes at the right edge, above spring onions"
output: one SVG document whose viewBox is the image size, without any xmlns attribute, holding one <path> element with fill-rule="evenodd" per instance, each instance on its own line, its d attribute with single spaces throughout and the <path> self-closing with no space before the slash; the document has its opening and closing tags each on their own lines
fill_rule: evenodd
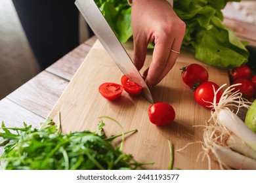
<svg viewBox="0 0 256 183">
<path fill-rule="evenodd" d="M 236 86 L 235 90 L 239 90 L 245 99 L 251 100 L 256 97 L 256 75 L 253 76 L 253 72 L 247 65 L 241 65 L 228 71 L 232 84 L 240 83 L 240 86 Z"/>
</svg>

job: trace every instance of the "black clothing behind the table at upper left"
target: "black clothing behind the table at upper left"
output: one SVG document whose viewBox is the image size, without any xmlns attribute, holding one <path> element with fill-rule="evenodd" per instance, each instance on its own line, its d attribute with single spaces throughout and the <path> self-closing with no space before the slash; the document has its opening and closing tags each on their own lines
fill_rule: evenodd
<svg viewBox="0 0 256 183">
<path fill-rule="evenodd" d="M 41 69 L 79 44 L 74 0 L 12 0 Z"/>
</svg>

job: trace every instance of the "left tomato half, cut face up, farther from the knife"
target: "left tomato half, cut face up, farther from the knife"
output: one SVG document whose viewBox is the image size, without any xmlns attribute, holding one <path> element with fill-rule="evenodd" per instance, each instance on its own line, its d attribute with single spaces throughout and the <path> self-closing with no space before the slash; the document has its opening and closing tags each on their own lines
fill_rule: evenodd
<svg viewBox="0 0 256 183">
<path fill-rule="evenodd" d="M 98 87 L 98 92 L 100 92 L 104 98 L 112 101 L 121 95 L 123 87 L 113 82 L 105 82 Z"/>
</svg>

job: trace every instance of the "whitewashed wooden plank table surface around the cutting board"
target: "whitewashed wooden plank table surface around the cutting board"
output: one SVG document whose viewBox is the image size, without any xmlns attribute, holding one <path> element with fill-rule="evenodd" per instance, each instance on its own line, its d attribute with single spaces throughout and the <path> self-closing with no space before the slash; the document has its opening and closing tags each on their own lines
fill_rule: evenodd
<svg viewBox="0 0 256 183">
<path fill-rule="evenodd" d="M 230 19 L 225 19 L 224 24 L 234 29 L 241 39 L 256 46 L 256 25 Z M 0 121 L 8 127 L 21 127 L 23 122 L 38 127 L 51 112 L 95 41 L 96 37 L 88 39 L 2 99 Z"/>
</svg>

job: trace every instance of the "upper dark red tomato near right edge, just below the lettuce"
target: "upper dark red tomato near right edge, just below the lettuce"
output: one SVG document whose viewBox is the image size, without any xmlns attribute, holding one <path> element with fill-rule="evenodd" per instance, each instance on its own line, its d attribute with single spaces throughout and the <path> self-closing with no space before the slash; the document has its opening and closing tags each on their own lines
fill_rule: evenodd
<svg viewBox="0 0 256 183">
<path fill-rule="evenodd" d="M 238 79 L 249 80 L 251 78 L 252 71 L 247 65 L 242 64 L 240 67 L 235 67 L 234 69 L 230 69 L 228 71 L 228 74 L 232 81 L 238 80 Z"/>
</svg>

